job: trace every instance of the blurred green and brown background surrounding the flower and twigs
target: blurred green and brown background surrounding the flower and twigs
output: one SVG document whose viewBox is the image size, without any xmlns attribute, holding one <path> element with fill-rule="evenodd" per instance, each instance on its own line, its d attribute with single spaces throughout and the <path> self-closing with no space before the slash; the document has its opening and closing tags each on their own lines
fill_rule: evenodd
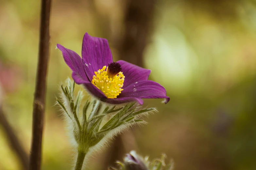
<svg viewBox="0 0 256 170">
<path fill-rule="evenodd" d="M 39 17 L 40 1 L 0 0 L 0 98 L 27 153 Z M 171 98 L 166 105 L 145 100 L 159 113 L 118 140 L 125 149 L 112 146 L 95 155 L 88 169 L 106 169 L 120 159 L 117 152 L 137 149 L 150 158 L 165 152 L 176 170 L 255 170 L 255 21 L 255 0 L 53 0 L 42 169 L 72 167 L 74 152 L 54 106 L 58 85 L 71 70 L 55 47 L 60 43 L 80 55 L 88 32 L 108 39 L 114 61 L 151 69 L 150 79 Z M 0 170 L 17 169 L 20 162 L 0 126 Z"/>
</svg>

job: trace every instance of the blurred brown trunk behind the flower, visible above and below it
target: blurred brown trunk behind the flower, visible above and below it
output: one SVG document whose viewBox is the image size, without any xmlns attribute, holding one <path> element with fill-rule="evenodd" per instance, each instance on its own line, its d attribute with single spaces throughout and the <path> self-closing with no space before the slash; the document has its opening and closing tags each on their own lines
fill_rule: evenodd
<svg viewBox="0 0 256 170">
<path fill-rule="evenodd" d="M 153 19 L 155 0 L 128 0 L 125 14 L 125 33 L 118 50 L 120 59 L 143 66 L 143 51 L 150 37 L 151 21 Z M 108 153 L 108 165 L 121 160 L 124 153 L 131 149 L 138 150 L 133 132 L 127 132 L 116 137 L 111 151 Z M 106 167 L 105 167 L 106 168 Z"/>
</svg>

